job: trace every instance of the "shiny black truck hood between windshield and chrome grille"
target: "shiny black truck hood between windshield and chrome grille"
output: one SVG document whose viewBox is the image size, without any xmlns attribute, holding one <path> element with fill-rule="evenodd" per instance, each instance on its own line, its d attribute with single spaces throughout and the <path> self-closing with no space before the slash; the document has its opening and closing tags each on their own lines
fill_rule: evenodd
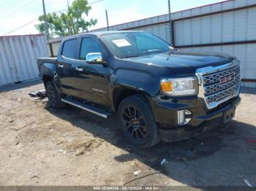
<svg viewBox="0 0 256 191">
<path fill-rule="evenodd" d="M 125 61 L 143 63 L 171 69 L 176 74 L 195 74 L 196 69 L 206 66 L 219 66 L 230 63 L 235 57 L 219 52 L 195 52 L 176 50 L 151 55 L 142 55 L 133 58 L 124 58 Z"/>
</svg>

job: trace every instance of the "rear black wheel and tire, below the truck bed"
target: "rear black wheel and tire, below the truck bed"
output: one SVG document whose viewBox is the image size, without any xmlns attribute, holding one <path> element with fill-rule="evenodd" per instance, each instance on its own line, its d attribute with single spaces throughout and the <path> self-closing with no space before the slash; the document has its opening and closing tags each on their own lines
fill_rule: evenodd
<svg viewBox="0 0 256 191">
<path fill-rule="evenodd" d="M 48 104 L 53 108 L 61 108 L 65 106 L 65 103 L 61 101 L 61 96 L 56 90 L 55 85 L 52 81 L 46 83 L 46 94 L 48 96 Z"/>
</svg>

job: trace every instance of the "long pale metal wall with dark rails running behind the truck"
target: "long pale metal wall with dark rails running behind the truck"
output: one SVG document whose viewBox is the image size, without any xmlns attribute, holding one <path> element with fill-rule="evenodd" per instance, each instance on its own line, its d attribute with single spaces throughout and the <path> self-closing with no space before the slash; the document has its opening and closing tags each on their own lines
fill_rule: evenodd
<svg viewBox="0 0 256 191">
<path fill-rule="evenodd" d="M 209 44 L 195 50 L 227 52 L 241 60 L 242 78 L 256 79 L 256 44 L 211 45 L 213 43 L 244 42 L 256 40 L 256 0 L 229 0 L 180 12 L 173 12 L 175 45 Z M 206 15 L 205 15 L 206 14 Z M 159 15 L 116 26 L 110 30 L 148 31 L 170 42 L 169 15 Z M 94 31 L 107 31 L 99 28 Z M 61 39 L 56 39 L 58 42 Z M 59 49 L 54 46 L 53 52 Z M 255 82 L 243 85 L 256 87 Z"/>
</svg>

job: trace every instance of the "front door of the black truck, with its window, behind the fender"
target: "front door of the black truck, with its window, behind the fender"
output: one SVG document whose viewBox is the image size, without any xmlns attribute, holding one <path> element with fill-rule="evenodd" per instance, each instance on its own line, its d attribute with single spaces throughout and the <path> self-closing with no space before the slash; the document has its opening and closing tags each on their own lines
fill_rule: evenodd
<svg viewBox="0 0 256 191">
<path fill-rule="evenodd" d="M 86 62 L 86 55 L 91 52 L 100 52 L 103 57 L 105 50 L 94 37 L 86 36 L 81 39 L 80 64 L 75 71 L 79 98 L 92 101 L 96 104 L 111 106 L 109 76 L 110 69 L 102 64 L 91 64 Z"/>
</svg>

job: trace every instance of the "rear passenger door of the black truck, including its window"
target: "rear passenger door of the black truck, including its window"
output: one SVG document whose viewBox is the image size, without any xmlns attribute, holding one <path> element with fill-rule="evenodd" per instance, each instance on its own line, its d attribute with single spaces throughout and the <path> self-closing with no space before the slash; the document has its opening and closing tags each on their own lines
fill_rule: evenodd
<svg viewBox="0 0 256 191">
<path fill-rule="evenodd" d="M 75 68 L 78 66 L 78 61 L 75 59 L 77 57 L 77 49 L 77 38 L 65 41 L 56 66 L 61 90 L 63 90 L 65 94 L 73 96 L 75 96 L 78 91 L 75 79 Z"/>
</svg>

